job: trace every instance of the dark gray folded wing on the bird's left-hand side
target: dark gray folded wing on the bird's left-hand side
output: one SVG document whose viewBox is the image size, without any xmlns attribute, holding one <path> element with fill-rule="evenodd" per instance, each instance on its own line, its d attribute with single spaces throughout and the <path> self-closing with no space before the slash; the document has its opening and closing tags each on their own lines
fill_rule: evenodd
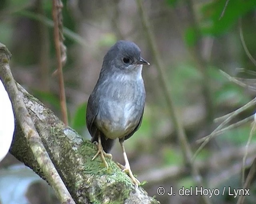
<svg viewBox="0 0 256 204">
<path fill-rule="evenodd" d="M 86 126 L 90 132 L 90 135 L 94 137 L 97 128 L 94 124 L 94 120 L 98 114 L 98 106 L 93 94 L 90 95 L 87 108 L 86 108 Z"/>
</svg>

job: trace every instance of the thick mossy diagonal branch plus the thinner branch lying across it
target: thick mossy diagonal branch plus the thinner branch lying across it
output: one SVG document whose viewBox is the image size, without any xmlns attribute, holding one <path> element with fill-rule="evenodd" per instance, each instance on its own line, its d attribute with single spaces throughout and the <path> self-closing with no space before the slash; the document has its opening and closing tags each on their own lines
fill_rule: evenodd
<svg viewBox="0 0 256 204">
<path fill-rule="evenodd" d="M 89 140 L 82 141 L 76 131 L 65 126 L 50 109 L 15 82 L 9 58 L 10 53 L 0 44 L 0 78 L 11 96 L 16 117 L 10 149 L 14 157 L 47 180 L 57 194 L 62 195 L 59 199 L 64 204 L 66 201 L 74 204 L 68 200 L 69 193 L 76 204 L 158 204 L 143 188 L 135 187 L 113 161 L 107 159 L 108 170 L 100 166 L 99 157 L 91 161 L 97 151 L 96 145 Z M 69 193 L 59 183 L 53 186 L 59 177 Z"/>
</svg>

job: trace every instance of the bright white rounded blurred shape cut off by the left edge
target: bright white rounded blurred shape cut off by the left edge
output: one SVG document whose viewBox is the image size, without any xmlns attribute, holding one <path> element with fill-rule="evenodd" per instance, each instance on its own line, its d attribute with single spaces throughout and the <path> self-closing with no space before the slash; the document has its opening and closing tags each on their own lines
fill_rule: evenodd
<svg viewBox="0 0 256 204">
<path fill-rule="evenodd" d="M 12 103 L 0 80 L 0 161 L 8 153 L 14 133 L 14 114 Z"/>
</svg>

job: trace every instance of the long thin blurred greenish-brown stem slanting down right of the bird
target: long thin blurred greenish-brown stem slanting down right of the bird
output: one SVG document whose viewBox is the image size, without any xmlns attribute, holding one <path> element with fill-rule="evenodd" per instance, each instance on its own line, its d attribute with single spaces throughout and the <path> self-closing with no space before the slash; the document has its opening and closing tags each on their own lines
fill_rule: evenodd
<svg viewBox="0 0 256 204">
<path fill-rule="evenodd" d="M 160 82 L 160 85 L 164 92 L 164 96 L 166 97 L 166 101 L 167 101 L 169 111 L 170 111 L 170 116 L 172 117 L 172 121 L 174 123 L 174 127 L 176 129 L 178 139 L 180 141 L 180 145 L 182 148 L 184 160 L 185 160 L 186 164 L 188 164 L 189 167 L 191 168 L 192 175 L 193 175 L 195 181 L 197 182 L 198 186 L 204 186 L 203 182 L 202 182 L 202 177 L 198 171 L 198 168 L 192 162 L 192 150 L 188 143 L 184 127 L 182 125 L 182 122 L 180 121 L 180 118 L 178 117 L 178 112 L 174 106 L 174 102 L 173 102 L 171 94 L 169 92 L 168 85 L 167 85 L 168 83 L 165 78 L 166 75 L 162 71 L 163 66 L 162 66 L 160 56 L 159 56 L 157 48 L 156 48 L 156 41 L 155 41 L 154 35 L 152 34 L 152 31 L 150 29 L 150 24 L 149 24 L 148 18 L 142 8 L 142 0 L 137 0 L 137 5 L 138 5 L 138 10 L 139 10 L 138 13 L 140 14 L 142 25 L 144 27 L 144 31 L 146 33 L 146 38 L 148 40 L 148 45 L 150 47 L 150 50 L 152 51 L 152 55 L 154 56 L 154 62 L 155 62 L 155 66 L 158 71 L 158 77 L 159 77 L 158 81 Z M 211 203 L 210 200 L 206 196 L 202 196 L 202 202 L 205 204 Z"/>
</svg>

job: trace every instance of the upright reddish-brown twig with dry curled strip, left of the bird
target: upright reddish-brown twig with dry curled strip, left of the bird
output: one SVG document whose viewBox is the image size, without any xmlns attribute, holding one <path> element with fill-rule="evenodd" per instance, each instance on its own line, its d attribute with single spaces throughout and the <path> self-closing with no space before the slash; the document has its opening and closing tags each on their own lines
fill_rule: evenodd
<svg viewBox="0 0 256 204">
<path fill-rule="evenodd" d="M 66 47 L 63 44 L 64 37 L 62 34 L 62 7 L 63 4 L 61 0 L 52 0 L 52 18 L 54 21 L 54 43 L 57 57 L 57 70 L 60 89 L 60 106 L 62 120 L 64 124 L 68 125 L 68 112 L 66 106 L 64 79 L 62 73 L 62 67 L 66 63 Z"/>
</svg>

